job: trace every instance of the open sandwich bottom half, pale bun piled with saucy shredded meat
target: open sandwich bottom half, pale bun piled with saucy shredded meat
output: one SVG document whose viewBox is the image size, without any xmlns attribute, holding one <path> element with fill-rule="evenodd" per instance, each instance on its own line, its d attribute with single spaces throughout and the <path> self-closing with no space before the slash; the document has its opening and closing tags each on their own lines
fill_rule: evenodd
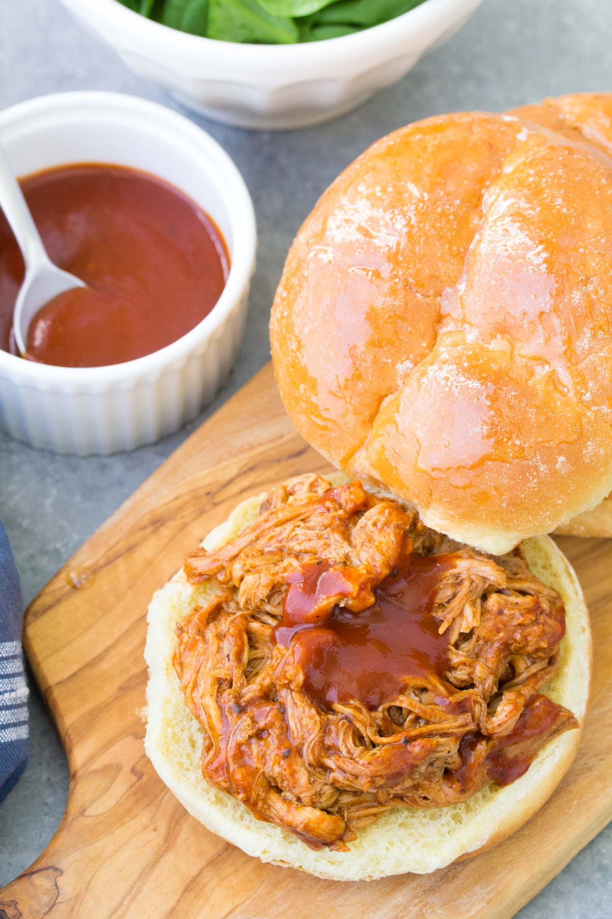
<svg viewBox="0 0 612 919">
<path fill-rule="evenodd" d="M 264 861 L 370 879 L 481 851 L 547 800 L 590 633 L 548 537 L 484 555 L 305 475 L 158 591 L 146 658 L 147 753 L 188 811 Z"/>
</svg>

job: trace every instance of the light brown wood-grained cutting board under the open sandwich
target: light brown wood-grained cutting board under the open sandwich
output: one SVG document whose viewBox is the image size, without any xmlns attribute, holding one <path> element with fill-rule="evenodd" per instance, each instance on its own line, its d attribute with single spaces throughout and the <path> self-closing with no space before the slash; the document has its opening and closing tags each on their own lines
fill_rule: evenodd
<svg viewBox="0 0 612 919">
<path fill-rule="evenodd" d="M 172 798 L 144 754 L 138 715 L 150 596 L 242 498 L 327 468 L 295 433 L 266 367 L 28 608 L 26 651 L 61 734 L 71 784 L 50 844 L 0 891 L 0 919 L 502 919 L 612 819 L 612 541 L 596 539 L 559 540 L 593 618 L 595 666 L 582 746 L 549 803 L 503 845 L 428 876 L 323 881 L 245 856 Z"/>
</svg>

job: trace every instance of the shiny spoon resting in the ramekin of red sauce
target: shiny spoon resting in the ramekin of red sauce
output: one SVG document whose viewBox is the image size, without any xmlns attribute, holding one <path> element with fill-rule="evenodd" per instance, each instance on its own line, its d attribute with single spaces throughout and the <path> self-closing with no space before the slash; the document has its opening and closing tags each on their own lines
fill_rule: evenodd
<svg viewBox="0 0 612 919">
<path fill-rule="evenodd" d="M 28 326 L 41 306 L 64 290 L 87 287 L 80 279 L 62 271 L 50 261 L 39 231 L 32 220 L 26 199 L 13 175 L 6 154 L 0 145 L 0 208 L 15 233 L 17 244 L 26 263 L 26 277 L 15 302 L 13 330 L 19 353 L 26 354 Z"/>
</svg>

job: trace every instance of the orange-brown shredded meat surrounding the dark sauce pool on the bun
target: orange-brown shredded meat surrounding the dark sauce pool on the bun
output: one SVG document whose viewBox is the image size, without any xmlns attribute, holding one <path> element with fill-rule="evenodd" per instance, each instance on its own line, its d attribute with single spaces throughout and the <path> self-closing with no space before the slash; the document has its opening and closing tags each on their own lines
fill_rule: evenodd
<svg viewBox="0 0 612 919">
<path fill-rule="evenodd" d="M 432 626 L 425 639 L 436 643 L 438 669 L 419 658 L 375 708 L 365 697 L 339 698 L 342 686 L 338 700 L 322 701 L 308 689 L 300 636 L 277 641 L 297 621 L 287 622 L 286 600 L 296 580 L 317 565 L 334 575 L 327 590 L 319 580 L 312 596 L 294 596 L 299 628 L 337 620 L 350 628 L 417 556 L 421 566 L 438 564 L 431 596 L 421 588 L 417 624 L 421 635 Z M 285 482 L 250 527 L 218 550 L 196 550 L 184 571 L 219 588 L 178 624 L 173 657 L 205 729 L 204 777 L 307 845 L 346 849 L 389 808 L 440 807 L 513 781 L 552 736 L 577 725 L 540 695 L 564 634 L 559 594 L 519 550 L 494 559 L 453 544 L 360 482 Z"/>
</svg>

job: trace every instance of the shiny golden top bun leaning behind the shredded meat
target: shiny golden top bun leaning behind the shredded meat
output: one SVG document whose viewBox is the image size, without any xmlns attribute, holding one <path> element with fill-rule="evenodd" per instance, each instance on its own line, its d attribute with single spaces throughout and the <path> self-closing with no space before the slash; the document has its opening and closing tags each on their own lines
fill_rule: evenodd
<svg viewBox="0 0 612 919">
<path fill-rule="evenodd" d="M 426 119 L 297 234 L 273 305 L 299 431 L 503 553 L 612 491 L 612 94 Z"/>
</svg>

